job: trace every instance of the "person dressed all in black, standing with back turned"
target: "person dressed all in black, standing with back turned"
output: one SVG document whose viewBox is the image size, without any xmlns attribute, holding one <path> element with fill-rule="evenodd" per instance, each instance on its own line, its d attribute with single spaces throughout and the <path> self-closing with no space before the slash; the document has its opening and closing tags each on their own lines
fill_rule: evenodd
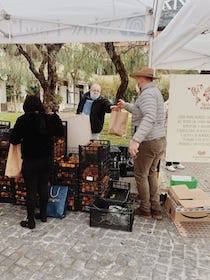
<svg viewBox="0 0 210 280">
<path fill-rule="evenodd" d="M 53 137 L 63 136 L 63 125 L 55 113 L 46 114 L 41 100 L 32 95 L 25 99 L 24 115 L 20 116 L 12 130 L 10 143 L 21 143 L 22 175 L 27 186 L 27 219 L 21 221 L 22 227 L 35 228 L 35 207 L 39 195 L 40 213 L 36 214 L 42 222 L 47 221 L 48 182 L 51 168 Z"/>
</svg>

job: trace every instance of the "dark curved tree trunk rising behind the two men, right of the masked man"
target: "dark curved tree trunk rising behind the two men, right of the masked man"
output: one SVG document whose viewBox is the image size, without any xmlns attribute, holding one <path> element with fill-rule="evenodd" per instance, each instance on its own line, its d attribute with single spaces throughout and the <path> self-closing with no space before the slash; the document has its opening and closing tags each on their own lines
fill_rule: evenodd
<svg viewBox="0 0 210 280">
<path fill-rule="evenodd" d="M 120 58 L 120 55 L 118 55 L 115 50 L 114 43 L 106 42 L 105 48 L 106 48 L 106 51 L 109 54 L 109 57 L 111 58 L 113 64 L 115 65 L 117 72 L 120 75 L 121 83 L 117 90 L 117 94 L 116 94 L 116 98 L 115 98 L 115 102 L 117 102 L 118 99 L 123 99 L 125 91 L 128 87 L 128 74 L 127 74 L 125 66 Z"/>
</svg>

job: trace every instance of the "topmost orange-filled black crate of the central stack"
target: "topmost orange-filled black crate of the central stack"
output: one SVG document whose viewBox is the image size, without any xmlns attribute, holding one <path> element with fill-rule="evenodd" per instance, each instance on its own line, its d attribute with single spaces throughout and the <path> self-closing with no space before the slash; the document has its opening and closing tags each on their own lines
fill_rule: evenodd
<svg viewBox="0 0 210 280">
<path fill-rule="evenodd" d="M 110 141 L 91 140 L 88 145 L 79 145 L 79 162 L 100 163 L 110 159 Z"/>
</svg>

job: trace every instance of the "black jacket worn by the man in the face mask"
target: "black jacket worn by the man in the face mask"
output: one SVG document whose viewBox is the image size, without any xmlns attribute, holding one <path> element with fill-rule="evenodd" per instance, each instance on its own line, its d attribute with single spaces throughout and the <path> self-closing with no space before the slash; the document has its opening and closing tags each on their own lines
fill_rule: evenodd
<svg viewBox="0 0 210 280">
<path fill-rule="evenodd" d="M 77 114 L 82 113 L 85 101 L 87 99 L 90 99 L 90 92 L 86 92 L 83 97 L 81 98 L 78 108 L 77 108 Z M 100 133 L 103 129 L 104 125 L 104 117 L 105 113 L 110 113 L 111 109 L 110 106 L 112 106 L 112 103 L 109 102 L 109 100 L 103 96 L 99 96 L 98 99 L 93 101 L 91 111 L 90 111 L 90 125 L 92 133 Z"/>
</svg>

